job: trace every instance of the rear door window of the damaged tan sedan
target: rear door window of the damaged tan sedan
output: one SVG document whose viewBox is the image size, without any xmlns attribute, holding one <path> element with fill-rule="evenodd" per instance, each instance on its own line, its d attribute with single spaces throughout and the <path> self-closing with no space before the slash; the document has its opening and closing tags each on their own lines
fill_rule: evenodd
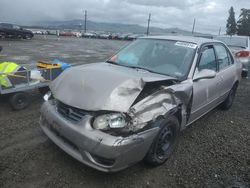
<svg viewBox="0 0 250 188">
<path fill-rule="evenodd" d="M 217 54 L 217 59 L 218 59 L 218 64 L 219 64 L 219 70 L 223 70 L 225 68 L 227 68 L 231 63 L 231 61 L 229 60 L 228 57 L 228 52 L 227 49 L 220 45 L 220 44 L 216 44 L 214 45 L 216 54 Z"/>
</svg>

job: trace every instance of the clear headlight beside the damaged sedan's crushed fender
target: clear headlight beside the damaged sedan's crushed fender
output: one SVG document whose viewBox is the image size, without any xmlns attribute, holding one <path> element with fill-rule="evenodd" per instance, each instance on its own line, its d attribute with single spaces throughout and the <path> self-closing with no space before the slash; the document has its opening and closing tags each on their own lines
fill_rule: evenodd
<svg viewBox="0 0 250 188">
<path fill-rule="evenodd" d="M 127 125 L 125 116 L 120 113 L 105 114 L 95 118 L 93 127 L 95 129 L 107 130 L 109 128 L 123 128 Z"/>
</svg>

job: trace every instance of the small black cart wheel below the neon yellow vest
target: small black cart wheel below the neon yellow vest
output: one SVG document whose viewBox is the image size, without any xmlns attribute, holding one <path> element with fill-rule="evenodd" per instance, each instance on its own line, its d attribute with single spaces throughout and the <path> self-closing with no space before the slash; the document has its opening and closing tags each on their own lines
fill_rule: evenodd
<svg viewBox="0 0 250 188">
<path fill-rule="evenodd" d="M 18 92 L 10 96 L 9 102 L 13 110 L 22 110 L 29 106 L 30 97 L 28 93 Z"/>
</svg>

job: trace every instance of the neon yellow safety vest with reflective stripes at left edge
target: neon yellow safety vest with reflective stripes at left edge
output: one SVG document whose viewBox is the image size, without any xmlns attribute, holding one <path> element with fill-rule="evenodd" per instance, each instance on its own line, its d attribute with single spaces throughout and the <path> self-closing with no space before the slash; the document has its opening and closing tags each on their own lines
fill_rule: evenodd
<svg viewBox="0 0 250 188">
<path fill-rule="evenodd" d="M 18 71 L 25 70 L 24 67 L 19 66 L 14 62 L 2 62 L 0 63 L 0 86 L 12 87 L 12 79 L 10 75 L 15 75 Z"/>
</svg>

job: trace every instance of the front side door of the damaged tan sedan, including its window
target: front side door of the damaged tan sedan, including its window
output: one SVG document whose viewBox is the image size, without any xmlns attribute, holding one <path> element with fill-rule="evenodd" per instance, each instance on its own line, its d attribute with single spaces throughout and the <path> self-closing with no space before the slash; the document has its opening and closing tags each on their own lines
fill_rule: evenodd
<svg viewBox="0 0 250 188">
<path fill-rule="evenodd" d="M 218 71 L 216 54 L 212 44 L 202 47 L 195 74 L 203 69 Z M 190 123 L 218 105 L 220 84 L 221 79 L 218 75 L 214 78 L 200 79 L 193 82 Z"/>
</svg>

